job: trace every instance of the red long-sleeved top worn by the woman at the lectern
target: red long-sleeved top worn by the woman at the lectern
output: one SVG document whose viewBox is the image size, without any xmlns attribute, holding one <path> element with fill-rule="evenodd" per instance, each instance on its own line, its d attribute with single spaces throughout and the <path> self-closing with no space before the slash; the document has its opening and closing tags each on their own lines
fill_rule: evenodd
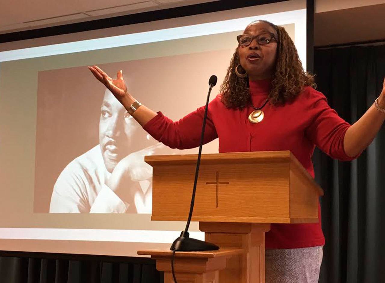
<svg viewBox="0 0 385 283">
<path fill-rule="evenodd" d="M 255 107 L 263 105 L 270 89 L 270 80 L 250 81 L 251 100 Z M 346 121 L 329 107 L 326 97 L 311 87 L 284 106 L 266 104 L 264 119 L 258 124 L 248 121 L 251 106 L 242 110 L 227 109 L 217 95 L 209 103 L 204 142 L 219 137 L 219 152 L 290 150 L 314 178 L 311 156 L 315 146 L 342 161 L 348 157 L 343 148 Z M 204 106 L 177 122 L 158 112 L 143 128 L 156 140 L 169 147 L 187 149 L 199 146 Z M 311 224 L 271 224 L 266 233 L 266 248 L 304 248 L 321 246 L 325 238 L 319 222 Z"/>
</svg>

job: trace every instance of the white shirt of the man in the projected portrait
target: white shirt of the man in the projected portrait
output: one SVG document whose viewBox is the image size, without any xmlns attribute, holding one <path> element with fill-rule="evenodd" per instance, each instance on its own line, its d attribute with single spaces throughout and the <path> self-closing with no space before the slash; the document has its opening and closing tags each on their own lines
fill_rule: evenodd
<svg viewBox="0 0 385 283">
<path fill-rule="evenodd" d="M 147 148 L 136 153 L 134 158 L 144 159 L 144 155 L 151 155 L 152 151 Z M 134 181 L 142 190 L 135 194 L 134 204 L 125 203 L 106 186 L 111 173 L 104 165 L 98 144 L 76 157 L 60 173 L 52 192 L 50 213 L 125 213 L 130 205 L 136 206 L 137 213 L 151 213 L 152 167 L 143 160 L 136 162 L 144 166 L 145 173 L 139 168 L 134 172 L 137 177 Z"/>
</svg>

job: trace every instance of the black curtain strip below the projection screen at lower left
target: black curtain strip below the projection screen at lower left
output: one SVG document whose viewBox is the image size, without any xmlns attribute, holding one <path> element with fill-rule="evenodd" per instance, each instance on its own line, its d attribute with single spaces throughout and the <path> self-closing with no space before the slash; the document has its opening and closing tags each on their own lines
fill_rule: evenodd
<svg viewBox="0 0 385 283">
<path fill-rule="evenodd" d="M 163 273 L 146 258 L 21 254 L 0 256 L 0 283 L 163 283 Z"/>
</svg>

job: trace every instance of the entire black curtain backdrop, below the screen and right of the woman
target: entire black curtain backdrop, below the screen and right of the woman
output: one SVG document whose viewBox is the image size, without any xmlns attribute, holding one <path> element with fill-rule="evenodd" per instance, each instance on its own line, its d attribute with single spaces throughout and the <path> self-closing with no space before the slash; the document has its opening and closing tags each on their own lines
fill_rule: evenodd
<svg viewBox="0 0 385 283">
<path fill-rule="evenodd" d="M 354 123 L 380 94 L 385 77 L 385 45 L 315 49 L 318 90 L 346 121 Z M 316 181 L 326 237 L 321 283 L 377 283 L 385 278 L 385 129 L 353 162 L 331 160 L 316 151 Z M 62 258 L 62 257 L 60 257 Z M 76 259 L 76 258 L 75 258 Z M 156 283 L 154 263 L 141 259 L 109 263 L 0 257 L 0 282 Z"/>
</svg>

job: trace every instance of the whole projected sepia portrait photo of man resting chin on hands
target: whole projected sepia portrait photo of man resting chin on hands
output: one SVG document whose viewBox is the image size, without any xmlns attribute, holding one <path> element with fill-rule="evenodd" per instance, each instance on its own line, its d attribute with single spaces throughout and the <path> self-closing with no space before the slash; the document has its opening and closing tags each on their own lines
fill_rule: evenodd
<svg viewBox="0 0 385 283">
<path fill-rule="evenodd" d="M 201 72 L 196 62 L 211 58 L 214 64 L 219 58 L 226 65 L 231 52 L 217 50 L 102 66 L 111 75 L 122 70 L 129 91 L 175 121 L 204 104 L 209 75 Z M 175 80 L 179 77 L 182 81 L 184 76 L 191 79 L 176 88 Z M 208 145 L 206 150 L 218 152 L 218 146 Z M 144 162 L 144 156 L 186 153 L 198 151 L 171 149 L 157 142 L 104 85 L 95 82 L 86 66 L 39 72 L 35 213 L 151 214 L 152 167 Z M 112 191 L 109 182 L 119 184 L 119 191 Z"/>
</svg>

